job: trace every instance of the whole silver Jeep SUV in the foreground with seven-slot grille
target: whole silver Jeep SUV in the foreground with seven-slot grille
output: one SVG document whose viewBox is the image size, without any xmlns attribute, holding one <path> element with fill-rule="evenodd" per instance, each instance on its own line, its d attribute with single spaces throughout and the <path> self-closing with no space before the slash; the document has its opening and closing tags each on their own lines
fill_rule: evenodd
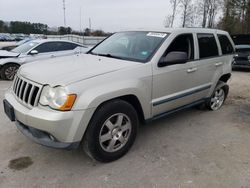
<svg viewBox="0 0 250 188">
<path fill-rule="evenodd" d="M 234 51 L 220 30 L 119 32 L 88 54 L 22 66 L 5 112 L 36 143 L 81 145 L 94 159 L 113 161 L 130 149 L 139 123 L 195 105 L 218 110 Z"/>
</svg>

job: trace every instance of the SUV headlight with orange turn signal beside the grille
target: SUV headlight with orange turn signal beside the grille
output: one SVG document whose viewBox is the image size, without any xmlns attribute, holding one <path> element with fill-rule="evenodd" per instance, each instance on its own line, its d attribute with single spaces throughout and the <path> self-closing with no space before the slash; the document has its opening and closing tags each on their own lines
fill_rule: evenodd
<svg viewBox="0 0 250 188">
<path fill-rule="evenodd" d="M 43 106 L 49 106 L 55 110 L 68 111 L 74 105 L 75 94 L 67 94 L 64 87 L 45 86 L 41 93 L 39 103 Z"/>
</svg>

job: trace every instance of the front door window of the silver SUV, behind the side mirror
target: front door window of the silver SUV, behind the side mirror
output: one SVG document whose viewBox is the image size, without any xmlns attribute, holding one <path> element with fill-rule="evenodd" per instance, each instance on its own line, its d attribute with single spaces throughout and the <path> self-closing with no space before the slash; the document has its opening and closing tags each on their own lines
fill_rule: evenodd
<svg viewBox="0 0 250 188">
<path fill-rule="evenodd" d="M 182 34 L 177 36 L 170 44 L 163 57 L 170 52 L 186 52 L 189 60 L 194 59 L 194 39 L 192 34 Z"/>
</svg>

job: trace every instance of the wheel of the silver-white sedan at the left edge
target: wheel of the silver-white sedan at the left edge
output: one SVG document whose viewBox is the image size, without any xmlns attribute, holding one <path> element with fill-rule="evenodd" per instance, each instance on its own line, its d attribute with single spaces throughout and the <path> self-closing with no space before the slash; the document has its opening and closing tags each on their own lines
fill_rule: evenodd
<svg viewBox="0 0 250 188">
<path fill-rule="evenodd" d="M 3 80 L 13 80 L 19 67 L 19 65 L 14 63 L 4 65 L 1 69 L 1 78 Z"/>
</svg>

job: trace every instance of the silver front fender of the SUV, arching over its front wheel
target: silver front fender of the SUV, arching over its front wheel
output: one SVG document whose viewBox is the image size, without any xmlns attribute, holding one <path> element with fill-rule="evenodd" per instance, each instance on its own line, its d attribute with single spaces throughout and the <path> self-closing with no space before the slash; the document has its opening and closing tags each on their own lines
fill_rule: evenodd
<svg viewBox="0 0 250 188">
<path fill-rule="evenodd" d="M 77 98 L 73 110 L 97 108 L 102 103 L 126 95 L 134 95 L 139 100 L 145 119 L 151 117 L 151 81 L 146 79 L 109 82 L 90 87 Z"/>
</svg>

